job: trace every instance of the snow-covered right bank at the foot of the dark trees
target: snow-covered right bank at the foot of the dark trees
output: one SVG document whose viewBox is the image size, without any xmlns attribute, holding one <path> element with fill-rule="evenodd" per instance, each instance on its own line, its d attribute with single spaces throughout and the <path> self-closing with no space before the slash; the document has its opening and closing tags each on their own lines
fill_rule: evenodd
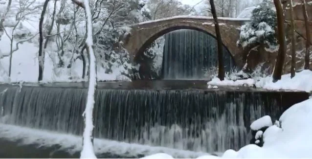
<svg viewBox="0 0 312 159">
<path fill-rule="evenodd" d="M 243 80 L 229 80 L 224 79 L 220 81 L 219 78 L 213 78 L 209 81 L 209 85 L 222 85 L 222 86 L 256 86 L 257 88 L 263 88 L 267 90 L 296 90 L 296 91 L 312 91 L 312 71 L 311 70 L 302 70 L 297 72 L 293 78 L 290 78 L 290 74 L 282 75 L 282 79 L 273 83 L 272 77 L 262 77 L 258 80 L 256 79 L 243 79 Z"/>
</svg>

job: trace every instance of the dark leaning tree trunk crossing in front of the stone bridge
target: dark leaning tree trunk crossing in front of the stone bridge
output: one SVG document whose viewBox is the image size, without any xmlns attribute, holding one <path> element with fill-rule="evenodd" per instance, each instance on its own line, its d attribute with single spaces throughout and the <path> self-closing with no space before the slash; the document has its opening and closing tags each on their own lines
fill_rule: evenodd
<svg viewBox="0 0 312 159">
<path fill-rule="evenodd" d="M 222 39 L 221 39 L 220 28 L 219 28 L 215 4 L 214 4 L 213 0 L 209 0 L 209 1 L 210 1 L 211 13 L 213 16 L 213 20 L 215 23 L 215 29 L 216 29 L 217 48 L 218 48 L 218 62 L 219 62 L 218 78 L 221 81 L 223 81 L 224 80 L 223 45 L 222 45 L 223 43 L 222 43 Z"/>
</svg>

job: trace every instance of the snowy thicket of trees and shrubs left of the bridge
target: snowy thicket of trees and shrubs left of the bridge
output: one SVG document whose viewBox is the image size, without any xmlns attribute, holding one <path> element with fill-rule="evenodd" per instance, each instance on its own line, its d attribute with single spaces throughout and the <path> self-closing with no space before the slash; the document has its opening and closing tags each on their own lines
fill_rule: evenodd
<svg viewBox="0 0 312 159">
<path fill-rule="evenodd" d="M 119 44 L 120 38 L 129 30 L 122 26 L 149 20 L 151 17 L 149 9 L 143 0 L 89 1 L 93 23 L 93 48 L 98 60 L 99 80 L 116 80 L 117 77 L 120 79 L 121 75 L 126 75 L 129 80 L 133 75 L 133 66 L 130 64 L 128 52 Z M 25 5 L 20 5 L 22 2 Z M 37 76 L 36 65 L 38 64 L 35 59 L 38 58 L 38 23 L 43 3 L 44 0 L 12 0 L 10 10 L 4 17 L 4 30 L 8 34 L 0 30 L 3 33 L 0 45 L 13 45 L 12 82 L 20 80 L 36 82 L 36 77 L 31 80 L 20 78 L 22 75 L 16 74 L 15 69 L 19 68 L 16 65 L 24 64 L 25 61 L 14 61 L 17 58 L 23 59 L 24 56 L 34 59 L 31 60 L 35 61 L 32 64 L 34 67 L 29 65 L 29 60 L 27 66 L 32 69 L 34 76 Z M 6 5 L 6 2 L 0 3 L 0 16 L 4 15 Z M 51 0 L 48 2 L 43 26 L 44 44 L 47 42 L 44 49 L 44 81 L 84 80 L 82 79 L 83 63 L 86 65 L 85 76 L 87 77 L 89 60 L 86 49 L 83 49 L 86 40 L 83 9 L 77 7 L 71 0 Z M 11 37 L 14 38 L 12 43 Z M 22 50 L 16 47 L 17 44 L 20 48 L 27 48 L 27 55 L 21 54 Z M 2 82 L 10 79 L 7 75 L 10 52 L 9 47 L 0 47 L 0 65 L 2 65 L 0 81 Z M 18 72 L 23 74 L 22 70 Z"/>
</svg>

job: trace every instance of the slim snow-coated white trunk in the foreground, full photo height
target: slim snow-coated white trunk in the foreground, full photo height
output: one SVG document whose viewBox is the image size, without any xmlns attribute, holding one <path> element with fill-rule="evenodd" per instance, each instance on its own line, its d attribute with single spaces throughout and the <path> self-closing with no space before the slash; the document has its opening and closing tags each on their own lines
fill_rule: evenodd
<svg viewBox="0 0 312 159">
<path fill-rule="evenodd" d="M 87 39 L 86 45 L 89 53 L 89 87 L 88 87 L 88 97 L 85 112 L 85 130 L 83 133 L 83 147 L 80 154 L 81 159 L 95 159 L 96 156 L 93 150 L 93 143 L 91 141 L 93 132 L 93 106 L 94 106 L 94 93 L 96 88 L 96 60 L 93 53 L 93 38 L 92 38 L 92 15 L 89 6 L 89 0 L 84 0 L 85 12 L 87 19 Z"/>
</svg>

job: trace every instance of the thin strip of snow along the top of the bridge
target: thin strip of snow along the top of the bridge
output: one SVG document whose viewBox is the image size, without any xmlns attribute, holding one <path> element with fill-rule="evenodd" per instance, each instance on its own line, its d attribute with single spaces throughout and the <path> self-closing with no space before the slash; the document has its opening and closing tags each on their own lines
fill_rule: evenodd
<svg viewBox="0 0 312 159">
<path fill-rule="evenodd" d="M 213 20 L 213 17 L 205 17 L 205 16 L 174 16 L 174 17 L 169 17 L 169 18 L 162 18 L 162 19 L 156 19 L 153 21 L 145 21 L 145 22 L 140 22 L 136 23 L 133 25 L 143 25 L 143 24 L 148 24 L 148 23 L 156 23 L 156 22 L 161 22 L 161 21 L 169 21 L 173 19 L 203 19 L 203 20 Z M 225 20 L 225 21 L 249 21 L 249 18 L 227 18 L 227 17 L 218 17 L 218 20 Z"/>
</svg>

